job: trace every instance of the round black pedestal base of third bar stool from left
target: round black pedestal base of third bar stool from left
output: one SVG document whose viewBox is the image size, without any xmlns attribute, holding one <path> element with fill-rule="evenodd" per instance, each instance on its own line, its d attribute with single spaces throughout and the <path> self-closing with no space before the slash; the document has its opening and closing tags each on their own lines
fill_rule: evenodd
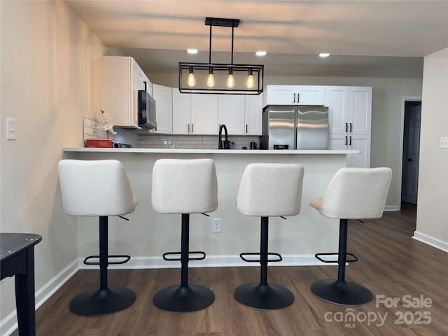
<svg viewBox="0 0 448 336">
<path fill-rule="evenodd" d="M 294 302 L 294 295 L 288 288 L 268 283 L 249 282 L 237 287 L 233 292 L 235 299 L 247 307 L 255 309 L 281 309 Z"/>
</svg>

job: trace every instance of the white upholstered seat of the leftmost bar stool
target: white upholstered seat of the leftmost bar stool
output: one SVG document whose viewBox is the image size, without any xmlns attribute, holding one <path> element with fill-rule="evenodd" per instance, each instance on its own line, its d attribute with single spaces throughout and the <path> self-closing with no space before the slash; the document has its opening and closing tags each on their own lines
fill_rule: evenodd
<svg viewBox="0 0 448 336">
<path fill-rule="evenodd" d="M 67 215 L 125 215 L 139 203 L 118 160 L 61 160 L 59 183 Z"/>
</svg>

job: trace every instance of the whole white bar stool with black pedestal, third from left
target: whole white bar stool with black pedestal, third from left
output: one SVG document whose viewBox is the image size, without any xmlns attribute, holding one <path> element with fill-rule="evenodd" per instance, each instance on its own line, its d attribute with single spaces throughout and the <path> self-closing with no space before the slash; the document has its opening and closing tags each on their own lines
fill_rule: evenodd
<svg viewBox="0 0 448 336">
<path fill-rule="evenodd" d="M 303 174 L 304 168 L 298 164 L 252 163 L 244 170 L 237 209 L 246 216 L 261 217 L 260 253 L 240 254 L 246 262 L 260 262 L 260 282 L 244 283 L 234 292 L 235 299 L 248 307 L 280 309 L 294 302 L 288 288 L 267 283 L 267 263 L 282 260 L 279 253 L 268 253 L 268 221 L 269 217 L 299 214 Z M 260 259 L 245 258 L 246 255 L 260 255 Z M 269 255 L 276 258 L 269 260 Z"/>
</svg>

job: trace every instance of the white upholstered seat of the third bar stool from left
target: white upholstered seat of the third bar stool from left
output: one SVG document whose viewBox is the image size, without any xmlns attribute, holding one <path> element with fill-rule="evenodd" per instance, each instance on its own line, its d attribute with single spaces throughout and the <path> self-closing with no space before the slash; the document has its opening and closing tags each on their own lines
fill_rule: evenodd
<svg viewBox="0 0 448 336">
<path fill-rule="evenodd" d="M 244 171 L 237 210 L 246 216 L 295 216 L 300 212 L 303 167 L 296 164 L 252 163 Z"/>
</svg>

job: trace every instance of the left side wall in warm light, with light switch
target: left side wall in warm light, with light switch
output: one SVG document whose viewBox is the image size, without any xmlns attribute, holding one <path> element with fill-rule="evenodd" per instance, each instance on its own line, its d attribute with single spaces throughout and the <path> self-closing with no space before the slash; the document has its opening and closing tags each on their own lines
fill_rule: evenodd
<svg viewBox="0 0 448 336">
<path fill-rule="evenodd" d="M 15 118 L 17 140 L 1 133 L 0 230 L 42 235 L 36 290 L 77 258 L 76 218 L 62 213 L 57 162 L 64 146 L 81 146 L 82 117 L 94 116 L 92 61 L 103 52 L 64 1 L 1 1 L 0 120 Z M 13 278 L 1 281 L 0 294 L 4 322 L 15 309 Z"/>
</svg>

